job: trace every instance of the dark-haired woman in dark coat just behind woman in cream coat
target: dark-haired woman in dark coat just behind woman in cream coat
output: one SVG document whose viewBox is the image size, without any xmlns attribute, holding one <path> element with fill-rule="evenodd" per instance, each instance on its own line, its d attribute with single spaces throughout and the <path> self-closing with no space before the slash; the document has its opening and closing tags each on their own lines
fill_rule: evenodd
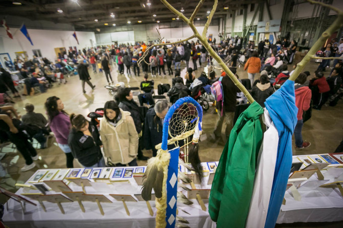
<svg viewBox="0 0 343 228">
<path fill-rule="evenodd" d="M 131 117 L 135 122 L 135 127 L 138 133 L 138 136 L 142 136 L 142 129 L 143 129 L 143 122 L 144 118 L 139 110 L 137 103 L 133 100 L 133 94 L 130 88 L 124 88 L 118 92 L 118 101 L 119 101 L 119 108 L 123 109 L 124 111 L 128 111 L 131 113 Z M 141 140 L 140 140 L 141 142 Z M 141 145 L 138 145 L 138 160 L 146 161 L 148 160 L 147 157 L 143 156 L 143 152 L 141 150 Z"/>
</svg>

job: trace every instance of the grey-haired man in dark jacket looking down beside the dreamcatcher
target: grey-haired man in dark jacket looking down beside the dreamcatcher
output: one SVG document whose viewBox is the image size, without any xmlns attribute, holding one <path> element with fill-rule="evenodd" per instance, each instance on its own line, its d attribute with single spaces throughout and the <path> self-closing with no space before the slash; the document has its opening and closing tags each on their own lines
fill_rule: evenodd
<svg viewBox="0 0 343 228">
<path fill-rule="evenodd" d="M 145 149 L 152 150 L 152 156 L 156 157 L 155 145 L 162 142 L 162 129 L 164 117 L 168 112 L 166 100 L 159 100 L 155 106 L 148 110 L 144 121 L 144 145 Z"/>
</svg>

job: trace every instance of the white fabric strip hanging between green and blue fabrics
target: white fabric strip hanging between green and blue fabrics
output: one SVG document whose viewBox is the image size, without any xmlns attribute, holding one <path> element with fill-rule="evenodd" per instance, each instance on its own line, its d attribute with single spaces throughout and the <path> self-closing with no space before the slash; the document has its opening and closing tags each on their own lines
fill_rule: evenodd
<svg viewBox="0 0 343 228">
<path fill-rule="evenodd" d="M 264 109 L 264 124 L 268 128 L 263 134 L 259 164 L 255 176 L 254 189 L 246 227 L 264 227 L 267 217 L 270 192 L 273 185 L 277 156 L 278 133 L 267 109 Z"/>
</svg>

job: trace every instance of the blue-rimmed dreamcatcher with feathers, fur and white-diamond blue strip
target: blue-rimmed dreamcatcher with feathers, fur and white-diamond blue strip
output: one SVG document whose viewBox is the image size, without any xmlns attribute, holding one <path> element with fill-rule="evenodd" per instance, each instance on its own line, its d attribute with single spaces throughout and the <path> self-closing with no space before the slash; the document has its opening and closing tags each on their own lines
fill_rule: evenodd
<svg viewBox="0 0 343 228">
<path fill-rule="evenodd" d="M 202 108 L 191 97 L 179 99 L 164 117 L 162 143 L 156 145 L 157 156 L 148 160 L 147 169 L 143 176 L 142 197 L 151 200 L 151 190 L 154 189 L 156 197 L 156 227 L 175 227 L 176 222 L 188 223 L 187 220 L 176 215 L 176 202 L 192 204 L 182 193 L 178 186 L 190 191 L 183 184 L 178 184 L 179 178 L 184 183 L 191 180 L 179 172 L 179 164 L 198 174 L 202 182 L 203 171 L 198 155 L 198 140 L 201 134 Z M 193 139 L 189 142 L 189 137 Z M 168 136 L 170 139 L 168 140 Z M 185 162 L 179 159 L 179 141 L 184 140 Z M 168 144 L 176 144 L 176 148 L 167 151 Z M 187 227 L 187 226 L 185 226 Z"/>
</svg>

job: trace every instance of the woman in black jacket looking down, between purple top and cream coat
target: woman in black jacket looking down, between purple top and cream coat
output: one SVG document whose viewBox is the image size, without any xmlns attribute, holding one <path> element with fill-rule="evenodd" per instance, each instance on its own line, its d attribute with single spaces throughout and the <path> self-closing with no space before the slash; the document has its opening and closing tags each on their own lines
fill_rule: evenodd
<svg viewBox="0 0 343 228">
<path fill-rule="evenodd" d="M 72 155 L 86 168 L 105 167 L 102 157 L 99 131 L 83 115 L 70 115 L 72 130 L 68 136 L 68 145 Z"/>
</svg>

